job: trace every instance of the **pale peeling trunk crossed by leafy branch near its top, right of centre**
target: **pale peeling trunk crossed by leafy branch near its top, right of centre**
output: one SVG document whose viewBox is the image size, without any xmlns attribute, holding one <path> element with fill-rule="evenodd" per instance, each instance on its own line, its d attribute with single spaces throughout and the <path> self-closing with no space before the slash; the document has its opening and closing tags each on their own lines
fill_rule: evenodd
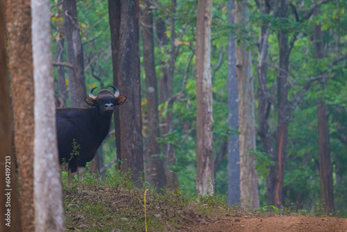
<svg viewBox="0 0 347 232">
<path fill-rule="evenodd" d="M 235 2 L 235 24 L 249 30 L 248 0 Z M 259 207 L 257 190 L 257 171 L 255 170 L 255 155 L 250 149 L 255 149 L 255 118 L 253 96 L 253 73 L 251 50 L 248 42 L 236 46 L 237 84 L 239 90 L 239 149 L 240 149 L 240 179 L 242 206 Z"/>
</svg>

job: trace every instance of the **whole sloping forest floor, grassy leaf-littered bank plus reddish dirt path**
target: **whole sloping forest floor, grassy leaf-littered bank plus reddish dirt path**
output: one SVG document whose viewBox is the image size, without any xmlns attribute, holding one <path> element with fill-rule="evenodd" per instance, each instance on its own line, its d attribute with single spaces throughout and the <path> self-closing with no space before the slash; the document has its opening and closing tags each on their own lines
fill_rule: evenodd
<svg viewBox="0 0 347 232">
<path fill-rule="evenodd" d="M 63 181 L 64 182 L 64 181 Z M 162 197 L 123 181 L 65 185 L 67 231 L 344 231 L 347 219 L 294 208 L 230 208 L 220 198 L 187 197 L 180 190 Z"/>
</svg>

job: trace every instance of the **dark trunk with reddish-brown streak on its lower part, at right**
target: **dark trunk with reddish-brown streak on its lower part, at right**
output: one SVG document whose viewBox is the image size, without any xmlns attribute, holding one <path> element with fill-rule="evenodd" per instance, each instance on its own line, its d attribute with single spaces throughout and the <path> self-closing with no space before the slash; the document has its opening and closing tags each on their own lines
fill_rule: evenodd
<svg viewBox="0 0 347 232">
<path fill-rule="evenodd" d="M 279 15 L 282 19 L 288 17 L 287 0 L 280 0 Z M 272 186 L 275 190 L 275 206 L 282 205 L 282 188 L 285 173 L 285 157 L 288 137 L 288 124 L 289 116 L 291 114 L 292 106 L 288 104 L 288 69 L 289 69 L 289 44 L 288 44 L 288 31 L 282 29 L 278 32 L 278 47 L 280 50 L 280 71 L 278 72 L 278 128 L 276 133 L 276 155 L 274 161 L 276 163 L 275 169 L 270 169 L 269 175 L 272 176 Z"/>
</svg>

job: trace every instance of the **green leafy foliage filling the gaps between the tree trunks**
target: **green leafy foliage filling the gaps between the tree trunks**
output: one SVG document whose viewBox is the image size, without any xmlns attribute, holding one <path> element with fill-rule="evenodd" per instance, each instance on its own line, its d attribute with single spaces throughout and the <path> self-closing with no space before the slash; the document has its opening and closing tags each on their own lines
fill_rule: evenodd
<svg viewBox="0 0 347 232">
<path fill-rule="evenodd" d="M 57 0 L 51 0 L 51 6 L 57 4 Z M 176 58 L 174 70 L 173 94 L 179 92 L 182 88 L 183 78 L 185 76 L 185 66 L 189 57 L 194 53 L 196 41 L 196 5 L 197 1 L 187 0 L 178 1 L 174 10 L 171 7 L 171 1 L 160 0 L 153 10 L 154 22 L 159 19 L 165 22 L 165 35 L 167 44 L 158 46 L 155 40 L 155 69 L 158 77 L 158 86 L 164 74 L 160 65 L 161 60 L 167 63 L 171 59 L 171 28 L 169 21 L 175 19 L 175 30 L 177 34 L 176 44 L 180 44 L 180 52 Z M 140 3 L 142 4 L 142 3 Z M 297 16 L 302 19 L 307 11 L 313 6 L 312 1 L 291 1 L 292 7 L 296 8 Z M 110 47 L 110 28 L 108 27 L 108 3 L 107 1 L 77 1 L 78 20 L 81 28 L 81 38 L 85 54 L 85 81 L 88 88 L 94 86 L 105 87 L 112 83 L 112 51 Z M 334 1 L 322 4 L 310 19 L 302 21 L 296 20 L 293 8 L 289 10 L 287 19 L 274 17 L 260 13 L 255 1 L 248 4 L 251 10 L 250 28 L 242 28 L 239 25 L 228 24 L 227 1 L 216 0 L 212 9 L 212 46 L 211 46 L 211 72 L 214 74 L 212 79 L 213 92 L 213 156 L 217 157 L 223 142 L 228 141 L 230 133 L 239 133 L 237 129 L 228 126 L 229 110 L 227 106 L 227 38 L 228 35 L 235 35 L 237 43 L 247 41 L 252 54 L 254 93 L 257 98 L 257 53 L 259 45 L 260 27 L 269 24 L 269 50 L 267 63 L 266 86 L 271 92 L 271 110 L 269 116 L 270 133 L 273 138 L 273 144 L 276 141 L 277 130 L 277 110 L 278 102 L 276 99 L 279 48 L 278 32 L 285 31 L 289 33 L 289 40 L 295 36 L 296 42 L 291 49 L 289 56 L 289 82 L 288 96 L 289 105 L 296 99 L 307 81 L 319 76 L 323 72 L 330 76 L 321 82 L 316 81 L 301 98 L 301 103 L 293 110 L 289 118 L 288 144 L 286 154 L 286 167 L 284 176 L 283 197 L 286 201 L 293 203 L 298 215 L 305 214 L 309 210 L 320 210 L 317 204 L 320 202 L 320 183 L 319 183 L 319 158 L 318 158 L 318 129 L 316 120 L 316 105 L 319 99 L 325 99 L 329 105 L 330 119 L 330 149 L 332 164 L 334 165 L 334 194 L 335 206 L 337 210 L 346 210 L 345 192 L 347 191 L 347 171 L 344 167 L 347 165 L 347 144 L 341 139 L 341 135 L 346 134 L 347 129 L 347 81 L 346 81 L 346 61 L 340 62 L 334 67 L 329 67 L 333 60 L 347 53 L 347 3 L 345 1 Z M 60 10 L 58 10 L 60 9 Z M 56 27 L 62 22 L 61 6 L 52 8 L 51 24 Z M 314 40 L 313 26 L 320 23 L 323 30 L 324 58 L 314 59 Z M 141 34 L 141 33 L 140 33 Z M 53 57 L 56 57 L 57 40 L 62 38 L 62 34 L 52 28 L 52 51 Z M 95 40 L 94 40 L 95 39 Z M 176 46 L 178 47 L 178 46 Z M 140 39 L 140 52 L 142 52 L 142 40 Z M 219 58 L 221 65 L 219 69 Z M 65 58 L 65 55 L 64 55 Z M 94 59 L 94 60 L 93 60 Z M 93 61 L 92 61 L 93 60 Z M 142 100 L 145 99 L 146 87 L 144 76 L 143 57 L 141 60 L 141 81 L 142 81 Z M 91 62 L 92 61 L 92 62 Z M 187 84 L 185 85 L 184 97 L 174 102 L 172 109 L 168 109 L 168 102 L 160 104 L 160 117 L 166 118 L 168 110 L 171 110 L 173 118 L 173 131 L 158 138 L 160 144 L 172 144 L 175 148 L 175 162 L 169 163 L 169 170 L 178 175 L 180 186 L 184 186 L 183 192 L 173 192 L 175 196 L 180 195 L 180 200 L 184 196 L 195 194 L 196 180 L 196 81 L 195 81 L 195 58 L 187 72 Z M 56 73 L 55 73 L 56 76 Z M 56 85 L 56 95 L 58 96 L 58 87 Z M 159 93 L 160 94 L 160 91 Z M 159 96 L 158 96 L 159 97 Z M 255 99 L 257 101 L 257 99 Z M 255 103 L 255 119 L 257 119 L 257 102 Z M 290 105 L 291 106 L 291 105 Z M 146 106 L 143 112 L 146 119 Z M 256 121 L 257 122 L 257 121 Z M 146 127 L 144 120 L 144 127 Z M 257 125 L 259 126 L 259 125 Z M 110 131 L 114 129 L 113 120 Z M 260 138 L 256 138 L 257 148 L 250 151 L 257 158 L 257 174 L 259 176 L 260 205 L 266 205 L 266 174 L 268 167 L 273 165 L 269 154 L 264 152 Z M 144 138 L 146 143 L 146 138 Z M 72 152 L 74 156 L 78 149 Z M 99 154 L 103 158 L 103 163 L 115 163 L 115 135 L 112 133 L 109 138 L 103 141 Z M 162 154 L 158 154 L 162 156 Z M 228 159 L 223 156 L 221 165 L 216 172 L 216 182 L 214 183 L 217 196 L 226 197 L 228 190 Z M 115 165 L 108 168 L 107 185 L 112 188 L 121 186 L 127 187 L 130 182 L 130 174 L 121 174 L 115 169 Z M 63 173 L 63 180 L 66 174 Z M 92 184 L 92 177 L 87 174 L 84 183 Z M 99 180 L 99 177 L 98 177 Z M 100 181 L 100 180 L 99 180 Z M 94 183 L 95 184 L 95 183 Z M 149 183 L 144 182 L 144 185 Z M 171 190 L 174 191 L 174 190 Z M 171 193 L 170 193 L 171 194 Z M 171 195 L 172 196 L 172 195 Z M 213 201 L 201 197 L 196 201 Z M 211 204 L 217 206 L 216 204 Z M 210 205 L 207 205 L 208 207 Z M 74 206 L 69 206 L 71 210 Z M 285 213 L 279 208 L 269 206 L 263 210 L 276 211 L 276 213 Z M 94 209 L 97 214 L 98 208 Z M 290 210 L 289 210 L 290 211 Z M 99 213 L 98 213 L 99 212 Z M 154 217 L 153 217 L 154 218 Z M 158 219 L 157 219 L 158 220 Z M 150 223 L 155 224 L 155 221 Z M 121 222 L 124 223 L 124 222 Z M 174 223 L 174 222 L 173 222 Z M 135 227 L 134 227 L 135 228 Z M 136 227 L 137 228 L 137 227 Z M 138 227 L 139 228 L 139 227 Z"/>
</svg>

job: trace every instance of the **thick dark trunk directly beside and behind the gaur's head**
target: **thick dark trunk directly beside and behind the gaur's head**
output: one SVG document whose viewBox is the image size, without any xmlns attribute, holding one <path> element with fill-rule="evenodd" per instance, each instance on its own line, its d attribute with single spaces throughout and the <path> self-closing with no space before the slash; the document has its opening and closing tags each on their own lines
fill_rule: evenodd
<svg viewBox="0 0 347 232">
<path fill-rule="evenodd" d="M 120 8 L 113 8 L 119 6 Z M 128 97 L 125 107 L 119 110 L 119 138 L 120 140 L 120 160 L 123 167 L 131 169 L 132 181 L 138 187 L 142 186 L 139 179 L 143 179 L 143 156 L 142 156 L 142 115 L 141 115 L 141 91 L 139 81 L 139 2 L 137 0 L 113 1 L 109 5 L 111 40 L 119 44 L 115 53 L 118 57 L 112 56 L 112 62 L 117 62 L 117 87 L 122 94 Z M 121 10 L 120 17 L 117 10 Z M 120 19 L 120 21 L 119 21 Z M 120 22 L 120 23 L 119 23 Z M 119 23 L 119 24 L 118 24 Z M 114 27 L 115 26 L 115 27 Z M 119 32 L 115 30 L 119 28 Z M 119 38 L 115 38 L 119 35 Z M 115 78 L 115 74 L 114 74 Z M 117 117 L 117 116 L 116 116 Z M 115 127 L 118 128 L 118 125 Z M 116 136 L 118 134 L 116 133 Z"/>
</svg>

